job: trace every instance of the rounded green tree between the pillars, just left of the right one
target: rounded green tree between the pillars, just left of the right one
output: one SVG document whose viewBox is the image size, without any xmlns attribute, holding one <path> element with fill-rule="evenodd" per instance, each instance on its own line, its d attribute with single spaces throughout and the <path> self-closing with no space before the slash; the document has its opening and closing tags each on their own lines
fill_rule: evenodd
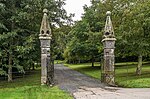
<svg viewBox="0 0 150 99">
<path fill-rule="evenodd" d="M 94 66 L 95 58 L 99 59 L 101 46 L 102 24 L 95 5 L 84 6 L 85 13 L 82 20 L 77 22 L 69 33 L 70 42 L 65 49 L 67 61 L 91 61 Z"/>
</svg>

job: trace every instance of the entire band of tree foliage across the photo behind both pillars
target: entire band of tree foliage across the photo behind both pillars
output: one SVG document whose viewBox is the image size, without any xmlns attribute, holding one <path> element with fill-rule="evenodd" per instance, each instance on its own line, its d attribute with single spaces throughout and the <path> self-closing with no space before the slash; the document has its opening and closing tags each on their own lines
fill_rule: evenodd
<svg viewBox="0 0 150 99">
<path fill-rule="evenodd" d="M 72 25 L 63 8 L 64 0 L 0 1 L 0 74 L 12 81 L 12 72 L 25 70 L 40 61 L 38 39 L 42 10 L 49 10 L 53 34 L 53 56 L 69 63 L 100 61 L 106 11 L 112 12 L 115 30 L 116 61 L 139 61 L 150 56 L 149 0 L 91 0 L 81 21 Z"/>
</svg>

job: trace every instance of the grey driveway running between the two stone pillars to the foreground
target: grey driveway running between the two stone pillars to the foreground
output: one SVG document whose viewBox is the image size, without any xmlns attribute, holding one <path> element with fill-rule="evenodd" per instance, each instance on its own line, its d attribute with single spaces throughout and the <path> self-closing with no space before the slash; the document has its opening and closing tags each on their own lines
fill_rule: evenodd
<svg viewBox="0 0 150 99">
<path fill-rule="evenodd" d="M 63 64 L 55 65 L 55 84 L 75 99 L 150 99 L 150 88 L 108 87 Z"/>
</svg>

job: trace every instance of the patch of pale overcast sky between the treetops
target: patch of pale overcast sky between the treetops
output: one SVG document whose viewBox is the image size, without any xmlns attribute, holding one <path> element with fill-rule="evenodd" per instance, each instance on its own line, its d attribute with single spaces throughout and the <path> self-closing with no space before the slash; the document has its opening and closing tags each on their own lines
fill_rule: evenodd
<svg viewBox="0 0 150 99">
<path fill-rule="evenodd" d="M 73 20 L 80 20 L 81 15 L 84 12 L 83 6 L 86 4 L 90 6 L 90 0 L 66 0 L 66 5 L 64 8 L 66 9 L 67 13 L 75 13 L 75 17 Z"/>
</svg>

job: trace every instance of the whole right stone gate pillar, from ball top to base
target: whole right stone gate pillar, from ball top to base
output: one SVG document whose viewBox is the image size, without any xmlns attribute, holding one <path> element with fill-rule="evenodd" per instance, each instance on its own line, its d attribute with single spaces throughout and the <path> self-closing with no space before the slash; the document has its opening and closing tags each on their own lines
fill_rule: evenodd
<svg viewBox="0 0 150 99">
<path fill-rule="evenodd" d="M 103 46 L 104 46 L 104 56 L 103 56 L 103 65 L 102 65 L 102 77 L 101 81 L 105 84 L 114 86 L 115 78 L 114 78 L 114 63 L 115 63 L 115 36 L 114 30 L 111 22 L 111 12 L 107 11 L 106 13 L 106 24 L 103 35 Z"/>
</svg>

